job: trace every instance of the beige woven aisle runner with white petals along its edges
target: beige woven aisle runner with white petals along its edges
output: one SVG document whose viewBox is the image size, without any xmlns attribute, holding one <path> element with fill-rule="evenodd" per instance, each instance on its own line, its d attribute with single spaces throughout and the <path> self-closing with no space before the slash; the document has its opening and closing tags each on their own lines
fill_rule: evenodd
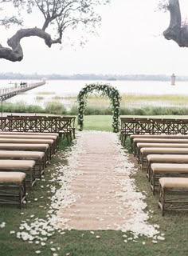
<svg viewBox="0 0 188 256">
<path fill-rule="evenodd" d="M 85 131 L 69 156 L 71 177 L 66 183 L 69 200 L 61 201 L 58 226 L 76 230 L 131 230 L 135 235 L 159 234 L 143 211 L 144 195 L 130 178 L 135 166 L 117 134 Z M 57 191 L 57 194 L 63 191 Z"/>
</svg>

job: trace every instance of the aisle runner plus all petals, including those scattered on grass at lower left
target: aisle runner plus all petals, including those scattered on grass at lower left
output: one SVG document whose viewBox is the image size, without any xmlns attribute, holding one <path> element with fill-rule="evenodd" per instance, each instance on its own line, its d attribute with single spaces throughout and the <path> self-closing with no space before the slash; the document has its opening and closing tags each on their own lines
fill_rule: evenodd
<svg viewBox="0 0 188 256">
<path fill-rule="evenodd" d="M 53 197 L 46 218 L 31 215 L 23 220 L 17 238 L 45 246 L 56 230 L 65 234 L 66 229 L 77 229 L 132 231 L 135 238 L 163 240 L 159 226 L 147 222 L 144 195 L 130 178 L 135 167 L 117 134 L 85 131 L 76 138 L 71 150 L 58 153 L 60 162 L 53 166 L 47 185 Z"/>
</svg>

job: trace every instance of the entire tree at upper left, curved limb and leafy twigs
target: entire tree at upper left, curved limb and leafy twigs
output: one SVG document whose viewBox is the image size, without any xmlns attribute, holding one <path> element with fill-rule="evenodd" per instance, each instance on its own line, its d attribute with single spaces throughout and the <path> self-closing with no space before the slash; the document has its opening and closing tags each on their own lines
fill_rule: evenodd
<svg viewBox="0 0 188 256">
<path fill-rule="evenodd" d="M 11 62 L 20 62 L 23 58 L 22 38 L 35 36 L 42 38 L 46 46 L 61 44 L 65 30 L 75 30 L 78 26 L 95 31 L 96 24 L 101 21 L 95 7 L 106 4 L 110 0 L 0 0 L 0 26 L 7 29 L 17 25 L 17 32 L 7 40 L 9 47 L 0 44 L 0 58 Z M 17 15 L 6 16 L 14 7 Z M 26 12 L 25 12 L 26 11 Z M 37 27 L 21 28 L 25 25 L 25 16 L 39 11 L 43 23 Z M 3 15 L 4 14 L 4 15 Z M 46 31 L 48 30 L 48 32 Z M 54 33 L 55 31 L 55 33 Z M 32 48 L 32 46 L 31 46 Z M 33 49 L 34 51 L 34 49 Z"/>
</svg>

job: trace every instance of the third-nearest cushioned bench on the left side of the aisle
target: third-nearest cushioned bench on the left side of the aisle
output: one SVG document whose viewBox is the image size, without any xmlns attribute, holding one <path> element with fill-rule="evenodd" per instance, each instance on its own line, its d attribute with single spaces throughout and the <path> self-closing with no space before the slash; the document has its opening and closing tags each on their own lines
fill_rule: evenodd
<svg viewBox="0 0 188 256">
<path fill-rule="evenodd" d="M 45 152 L 40 151 L 17 151 L 17 150 L 0 150 L 0 159 L 12 160 L 33 160 L 35 165 L 35 176 L 41 178 L 45 172 Z"/>
</svg>

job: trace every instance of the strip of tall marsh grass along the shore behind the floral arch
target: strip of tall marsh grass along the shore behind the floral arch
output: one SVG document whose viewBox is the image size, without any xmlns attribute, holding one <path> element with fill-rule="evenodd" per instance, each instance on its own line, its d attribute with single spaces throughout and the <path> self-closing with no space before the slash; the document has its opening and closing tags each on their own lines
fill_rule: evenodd
<svg viewBox="0 0 188 256">
<path fill-rule="evenodd" d="M 3 102 L 3 112 L 10 113 L 45 113 L 45 114 L 77 114 L 76 97 L 62 98 L 54 96 L 51 102 L 45 102 L 45 107 L 39 105 L 45 94 L 54 94 L 53 92 L 42 92 L 36 96 L 37 105 L 28 105 L 26 102 Z M 69 100 L 69 107 L 66 107 L 63 99 Z M 154 104 L 156 106 L 152 106 Z M 161 106 L 162 103 L 166 106 Z M 188 96 L 180 95 L 136 95 L 123 94 L 121 101 L 121 114 L 129 115 L 187 115 L 188 114 Z M 147 103 L 147 104 L 146 104 Z M 1 107 L 0 107 L 1 110 Z M 85 114 L 108 115 L 112 114 L 112 106 L 109 98 L 91 95 L 88 97 Z"/>
</svg>

